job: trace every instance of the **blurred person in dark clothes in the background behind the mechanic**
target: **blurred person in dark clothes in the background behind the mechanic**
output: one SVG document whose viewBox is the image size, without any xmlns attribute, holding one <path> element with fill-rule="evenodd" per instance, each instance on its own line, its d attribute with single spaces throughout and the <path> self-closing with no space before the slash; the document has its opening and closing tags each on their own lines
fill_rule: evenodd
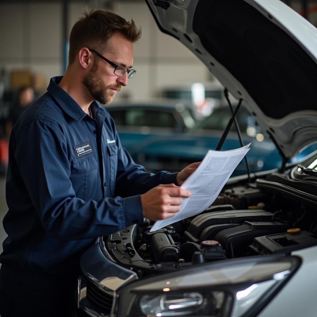
<svg viewBox="0 0 317 317">
<path fill-rule="evenodd" d="M 17 93 L 17 100 L 9 110 L 9 114 L 5 124 L 5 132 L 7 138 L 10 137 L 11 130 L 16 121 L 21 117 L 23 111 L 34 101 L 34 89 L 31 86 L 20 87 Z"/>
</svg>

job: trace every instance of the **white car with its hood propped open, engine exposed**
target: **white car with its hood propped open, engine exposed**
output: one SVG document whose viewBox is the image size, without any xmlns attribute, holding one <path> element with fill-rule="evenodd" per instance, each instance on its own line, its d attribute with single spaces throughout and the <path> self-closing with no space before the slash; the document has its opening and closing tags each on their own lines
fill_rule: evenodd
<svg viewBox="0 0 317 317">
<path fill-rule="evenodd" d="M 251 181 L 229 179 L 196 217 L 100 237 L 81 257 L 79 307 L 90 316 L 315 316 L 317 154 L 286 161 L 317 140 L 317 30 L 278 0 L 146 2 L 160 30 L 243 99 L 284 159 Z"/>
</svg>

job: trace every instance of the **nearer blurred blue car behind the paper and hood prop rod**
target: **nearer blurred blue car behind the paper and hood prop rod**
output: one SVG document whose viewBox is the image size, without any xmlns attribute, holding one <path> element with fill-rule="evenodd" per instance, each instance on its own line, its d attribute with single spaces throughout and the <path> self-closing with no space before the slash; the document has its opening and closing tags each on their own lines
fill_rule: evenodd
<svg viewBox="0 0 317 317">
<path fill-rule="evenodd" d="M 254 133 L 254 129 L 256 129 L 255 120 L 249 120 L 252 117 L 247 110 L 241 110 L 238 113 L 237 121 L 244 144 L 252 143 L 248 153 L 251 171 L 258 172 L 278 167 L 281 164 L 281 156 L 275 145 L 263 136 L 259 141 L 256 139 L 256 134 L 251 133 Z M 230 117 L 229 107 L 220 107 L 210 117 L 196 122 L 196 125 L 187 132 L 172 134 L 168 138 L 166 135 L 152 134 L 142 142 L 129 144 L 128 134 L 120 130 L 119 135 L 124 142 L 123 146 L 127 146 L 133 159 L 145 166 L 148 171 L 179 171 L 192 162 L 201 161 L 208 150 L 217 147 Z M 233 126 L 222 149 L 231 150 L 238 147 L 240 147 L 240 143 Z M 234 171 L 234 175 L 245 174 L 246 171 L 245 161 L 242 161 Z"/>
</svg>

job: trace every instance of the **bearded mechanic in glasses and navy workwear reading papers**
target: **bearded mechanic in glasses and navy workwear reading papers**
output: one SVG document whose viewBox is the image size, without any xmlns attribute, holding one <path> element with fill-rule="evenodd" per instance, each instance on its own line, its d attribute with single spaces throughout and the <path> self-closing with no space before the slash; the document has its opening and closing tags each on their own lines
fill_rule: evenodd
<svg viewBox="0 0 317 317">
<path fill-rule="evenodd" d="M 122 148 L 101 107 L 128 83 L 133 20 L 108 11 L 85 12 L 74 24 L 64 77 L 30 105 L 10 135 L 0 256 L 0 314 L 72 316 L 81 254 L 99 236 L 133 223 L 171 217 L 179 188 L 195 171 L 146 173 Z M 141 93 L 141 89 L 140 89 Z"/>
</svg>

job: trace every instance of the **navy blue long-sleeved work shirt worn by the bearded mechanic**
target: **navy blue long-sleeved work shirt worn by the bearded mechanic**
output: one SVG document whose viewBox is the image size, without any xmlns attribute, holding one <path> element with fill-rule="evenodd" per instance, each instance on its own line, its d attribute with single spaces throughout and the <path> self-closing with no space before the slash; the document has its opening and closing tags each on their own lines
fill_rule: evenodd
<svg viewBox="0 0 317 317">
<path fill-rule="evenodd" d="M 0 262 L 27 274 L 79 267 L 95 238 L 143 222 L 140 194 L 174 183 L 176 173 L 146 173 L 122 148 L 109 113 L 92 117 L 54 77 L 10 135 Z"/>
</svg>

